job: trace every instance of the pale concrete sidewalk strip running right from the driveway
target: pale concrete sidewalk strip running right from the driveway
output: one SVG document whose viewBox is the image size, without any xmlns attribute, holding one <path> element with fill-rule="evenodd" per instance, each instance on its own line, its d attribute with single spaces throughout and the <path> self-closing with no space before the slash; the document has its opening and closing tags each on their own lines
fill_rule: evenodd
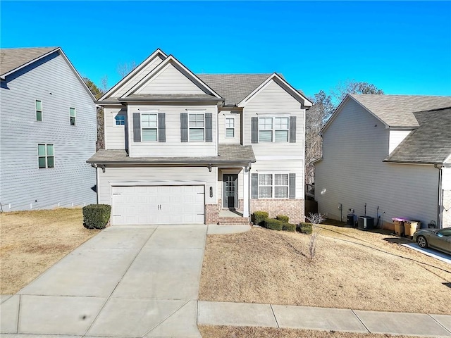
<svg viewBox="0 0 451 338">
<path fill-rule="evenodd" d="M 451 337 L 451 315 L 199 301 L 197 324 Z"/>
</svg>

